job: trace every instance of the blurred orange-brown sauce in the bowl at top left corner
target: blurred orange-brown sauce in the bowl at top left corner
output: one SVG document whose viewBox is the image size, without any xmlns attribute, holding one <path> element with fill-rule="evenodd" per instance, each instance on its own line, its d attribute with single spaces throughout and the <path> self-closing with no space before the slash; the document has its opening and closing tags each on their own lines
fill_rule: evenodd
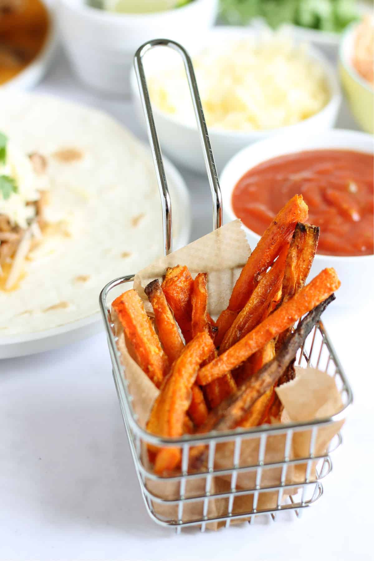
<svg viewBox="0 0 374 561">
<path fill-rule="evenodd" d="M 18 0 L 0 11 L 0 84 L 11 80 L 43 49 L 49 31 L 47 8 L 40 0 Z"/>
</svg>

